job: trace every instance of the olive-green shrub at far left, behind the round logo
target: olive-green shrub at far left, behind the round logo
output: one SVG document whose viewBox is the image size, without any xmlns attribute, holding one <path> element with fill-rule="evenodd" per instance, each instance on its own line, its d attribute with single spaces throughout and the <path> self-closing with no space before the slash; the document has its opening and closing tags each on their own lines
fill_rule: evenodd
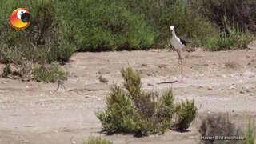
<svg viewBox="0 0 256 144">
<path fill-rule="evenodd" d="M 54 0 L 2 2 L 0 62 L 19 62 L 22 58 L 39 63 L 68 61 L 75 49 L 62 32 L 67 27 L 56 5 Z M 9 26 L 10 14 L 18 7 L 30 11 L 31 24 L 26 30 L 17 31 Z"/>
</svg>

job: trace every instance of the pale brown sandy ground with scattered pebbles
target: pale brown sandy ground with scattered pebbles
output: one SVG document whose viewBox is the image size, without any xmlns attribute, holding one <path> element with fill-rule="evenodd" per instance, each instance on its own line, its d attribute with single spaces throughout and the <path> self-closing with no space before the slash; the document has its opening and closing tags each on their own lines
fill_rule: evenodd
<svg viewBox="0 0 256 144">
<path fill-rule="evenodd" d="M 122 84 L 120 69 L 132 66 L 142 72 L 143 88 L 159 91 L 173 86 L 175 98 L 194 99 L 199 115 L 229 112 L 233 122 L 245 126 L 255 118 L 256 45 L 251 50 L 183 52 L 184 82 L 158 85 L 181 78 L 178 54 L 174 51 L 122 51 L 78 53 L 63 66 L 70 71 L 57 91 L 57 84 L 20 82 L 0 78 L 0 143 L 81 143 L 102 130 L 94 111 L 105 107 L 113 82 Z M 102 74 L 108 84 L 99 82 Z M 151 86 L 153 85 L 153 86 Z M 198 143 L 200 118 L 186 133 L 133 138 L 130 135 L 101 135 L 114 143 Z"/>
</svg>

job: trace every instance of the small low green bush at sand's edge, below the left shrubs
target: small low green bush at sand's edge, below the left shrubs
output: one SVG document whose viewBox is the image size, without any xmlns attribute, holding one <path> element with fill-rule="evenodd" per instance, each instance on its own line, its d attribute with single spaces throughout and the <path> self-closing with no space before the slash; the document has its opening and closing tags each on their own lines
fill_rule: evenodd
<svg viewBox="0 0 256 144">
<path fill-rule="evenodd" d="M 58 74 L 58 77 L 56 77 Z M 34 70 L 34 80 L 37 82 L 56 82 L 58 79 L 65 81 L 68 73 L 56 64 L 39 66 Z"/>
</svg>

